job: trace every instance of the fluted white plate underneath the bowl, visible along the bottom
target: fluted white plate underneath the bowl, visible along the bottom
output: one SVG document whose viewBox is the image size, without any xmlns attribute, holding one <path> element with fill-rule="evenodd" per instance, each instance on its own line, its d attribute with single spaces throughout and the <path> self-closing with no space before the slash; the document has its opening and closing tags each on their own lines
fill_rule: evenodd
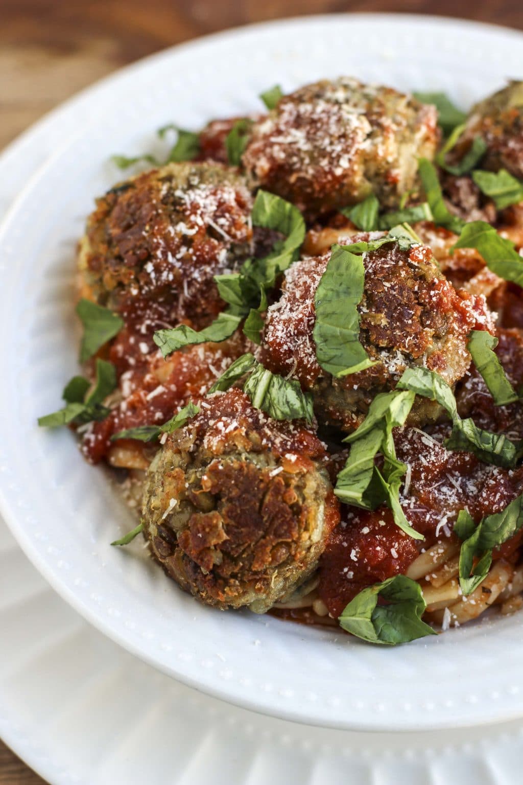
<svg viewBox="0 0 523 785">
<path fill-rule="evenodd" d="M 0 736 L 52 785 L 513 785 L 523 721 L 358 733 L 203 696 L 57 597 L 0 519 Z"/>
</svg>

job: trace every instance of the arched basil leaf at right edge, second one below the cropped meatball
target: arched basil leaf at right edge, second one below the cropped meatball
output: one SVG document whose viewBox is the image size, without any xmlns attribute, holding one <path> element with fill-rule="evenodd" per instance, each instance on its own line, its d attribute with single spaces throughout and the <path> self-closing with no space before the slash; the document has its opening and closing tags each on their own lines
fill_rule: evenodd
<svg viewBox="0 0 523 785">
<path fill-rule="evenodd" d="M 456 248 L 475 248 L 496 276 L 523 287 L 523 259 L 514 249 L 514 243 L 504 239 L 486 221 L 464 225 L 451 253 Z"/>
</svg>

